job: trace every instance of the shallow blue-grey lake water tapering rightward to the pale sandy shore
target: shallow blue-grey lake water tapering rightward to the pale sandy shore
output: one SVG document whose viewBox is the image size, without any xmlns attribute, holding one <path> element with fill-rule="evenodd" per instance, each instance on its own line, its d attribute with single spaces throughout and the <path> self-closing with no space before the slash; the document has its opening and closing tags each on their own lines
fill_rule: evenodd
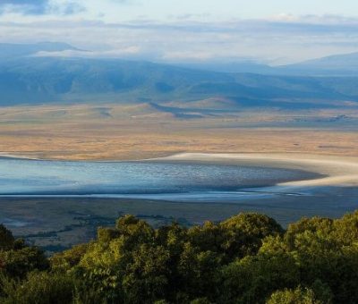
<svg viewBox="0 0 358 304">
<path fill-rule="evenodd" d="M 153 162 L 63 162 L 0 159 L 0 195 L 160 195 L 167 198 L 211 194 L 220 198 L 244 188 L 265 187 L 316 177 L 315 173 L 247 165 Z M 159 197 L 158 197 L 159 196 Z"/>
</svg>

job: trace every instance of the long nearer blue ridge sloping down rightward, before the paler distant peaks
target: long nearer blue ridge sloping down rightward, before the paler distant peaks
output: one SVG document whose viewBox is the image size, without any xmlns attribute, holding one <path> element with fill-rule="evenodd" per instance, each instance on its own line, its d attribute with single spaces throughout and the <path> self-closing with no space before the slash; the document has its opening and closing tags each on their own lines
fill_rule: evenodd
<svg viewBox="0 0 358 304">
<path fill-rule="evenodd" d="M 50 102 L 183 102 L 225 97 L 243 106 L 339 106 L 358 78 L 192 70 L 123 60 L 24 57 L 0 64 L 1 106 Z"/>
</svg>

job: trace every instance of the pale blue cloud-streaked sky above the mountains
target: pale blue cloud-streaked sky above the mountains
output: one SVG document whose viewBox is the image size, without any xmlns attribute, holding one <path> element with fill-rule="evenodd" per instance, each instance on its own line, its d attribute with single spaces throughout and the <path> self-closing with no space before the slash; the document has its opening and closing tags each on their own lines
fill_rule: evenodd
<svg viewBox="0 0 358 304">
<path fill-rule="evenodd" d="M 358 1 L 0 0 L 0 42 L 40 41 L 87 51 L 55 55 L 295 63 L 358 52 Z"/>
</svg>

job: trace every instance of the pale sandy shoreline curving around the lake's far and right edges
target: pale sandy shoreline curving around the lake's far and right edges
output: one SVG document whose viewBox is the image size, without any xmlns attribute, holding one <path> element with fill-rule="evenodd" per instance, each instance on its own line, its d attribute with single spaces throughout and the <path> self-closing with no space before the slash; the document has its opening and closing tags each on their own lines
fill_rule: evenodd
<svg viewBox="0 0 358 304">
<path fill-rule="evenodd" d="M 52 160 L 33 156 L 0 153 L 0 158 L 54 161 L 86 162 L 86 160 Z M 314 186 L 358 186 L 358 157 L 327 156 L 295 153 L 179 153 L 171 156 L 138 160 L 88 160 L 94 163 L 132 163 L 132 162 L 170 162 L 186 164 L 251 165 L 257 167 L 275 167 L 316 173 L 317 178 L 295 182 L 277 183 L 277 187 L 302 188 Z"/>
</svg>

